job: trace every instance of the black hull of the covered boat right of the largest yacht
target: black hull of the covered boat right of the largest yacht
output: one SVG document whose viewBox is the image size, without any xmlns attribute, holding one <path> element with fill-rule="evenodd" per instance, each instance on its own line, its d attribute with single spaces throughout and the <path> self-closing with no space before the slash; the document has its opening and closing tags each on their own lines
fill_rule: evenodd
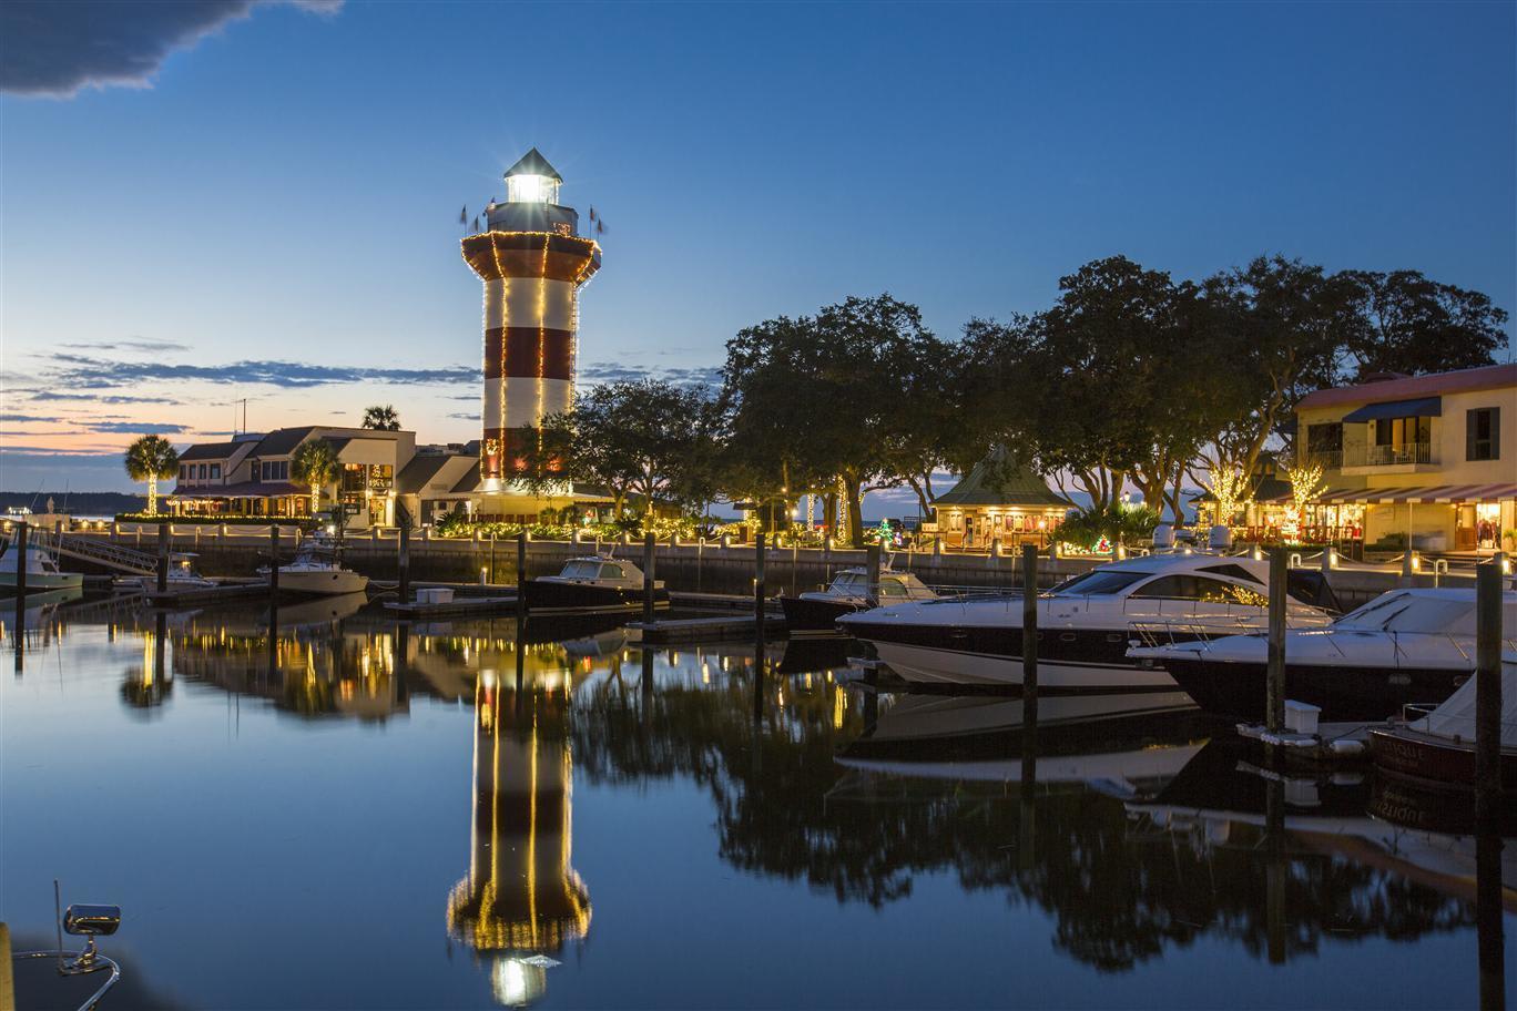
<svg viewBox="0 0 1517 1011">
<path fill-rule="evenodd" d="M 1201 709 L 1235 720 L 1264 720 L 1265 664 L 1165 658 L 1165 670 Z M 1379 721 L 1403 705 L 1437 705 L 1468 670 L 1285 665 L 1285 697 L 1318 706 L 1329 723 Z"/>
</svg>

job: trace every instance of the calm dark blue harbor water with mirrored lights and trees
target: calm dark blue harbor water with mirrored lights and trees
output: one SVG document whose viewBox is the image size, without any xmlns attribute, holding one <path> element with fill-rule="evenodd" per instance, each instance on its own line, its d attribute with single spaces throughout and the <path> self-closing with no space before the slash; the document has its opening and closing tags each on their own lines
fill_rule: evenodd
<svg viewBox="0 0 1517 1011">
<path fill-rule="evenodd" d="M 184 1008 L 1478 1005 L 1467 812 L 1173 699 L 1044 699 L 1024 785 L 1019 702 L 842 647 L 356 608 L 62 611 L 14 675 L 5 612 L 12 929 L 117 902 Z"/>
</svg>

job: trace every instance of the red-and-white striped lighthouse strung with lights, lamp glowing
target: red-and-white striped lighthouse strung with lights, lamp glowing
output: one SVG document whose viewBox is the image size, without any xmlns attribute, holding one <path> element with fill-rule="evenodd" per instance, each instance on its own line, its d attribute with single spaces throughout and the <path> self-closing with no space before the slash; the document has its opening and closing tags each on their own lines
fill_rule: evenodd
<svg viewBox="0 0 1517 1011">
<path fill-rule="evenodd" d="M 601 268 L 601 247 L 579 235 L 579 214 L 558 203 L 563 176 L 537 149 L 505 171 L 505 203 L 463 239 L 484 282 L 484 409 L 479 491 L 508 491 L 542 420 L 573 402 L 579 286 Z"/>
</svg>

